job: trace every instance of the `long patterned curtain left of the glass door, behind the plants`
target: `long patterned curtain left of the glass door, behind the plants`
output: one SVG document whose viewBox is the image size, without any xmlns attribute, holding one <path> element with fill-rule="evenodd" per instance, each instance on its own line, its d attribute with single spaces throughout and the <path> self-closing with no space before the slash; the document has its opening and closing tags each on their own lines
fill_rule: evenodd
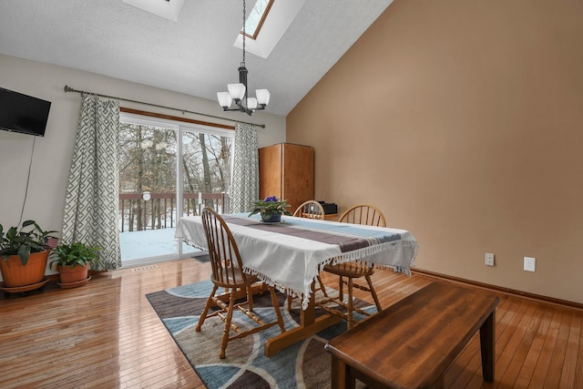
<svg viewBox="0 0 583 389">
<path fill-rule="evenodd" d="M 119 103 L 83 94 L 66 187 L 63 241 L 99 246 L 104 269 L 121 266 L 118 232 Z"/>
</svg>

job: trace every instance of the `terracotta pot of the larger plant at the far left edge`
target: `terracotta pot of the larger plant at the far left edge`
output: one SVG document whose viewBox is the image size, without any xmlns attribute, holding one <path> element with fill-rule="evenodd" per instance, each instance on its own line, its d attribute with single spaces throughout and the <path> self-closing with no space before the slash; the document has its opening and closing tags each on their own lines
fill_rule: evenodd
<svg viewBox="0 0 583 389">
<path fill-rule="evenodd" d="M 0 271 L 2 271 L 4 286 L 15 288 L 42 282 L 45 278 L 49 252 L 50 250 L 33 252 L 24 266 L 20 263 L 20 257 L 17 255 L 11 255 L 6 261 L 4 258 L 0 258 Z"/>
</svg>

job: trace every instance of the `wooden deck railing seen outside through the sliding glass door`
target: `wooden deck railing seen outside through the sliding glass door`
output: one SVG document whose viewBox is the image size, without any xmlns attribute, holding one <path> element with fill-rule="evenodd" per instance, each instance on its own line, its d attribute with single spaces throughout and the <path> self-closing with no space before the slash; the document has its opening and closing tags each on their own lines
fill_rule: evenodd
<svg viewBox="0 0 583 389">
<path fill-rule="evenodd" d="M 123 193 L 119 195 L 119 230 L 159 230 L 176 227 L 177 215 L 199 215 L 203 207 L 225 213 L 225 193 L 183 193 L 176 207 L 176 193 Z M 144 200 L 148 198 L 148 200 Z"/>
</svg>

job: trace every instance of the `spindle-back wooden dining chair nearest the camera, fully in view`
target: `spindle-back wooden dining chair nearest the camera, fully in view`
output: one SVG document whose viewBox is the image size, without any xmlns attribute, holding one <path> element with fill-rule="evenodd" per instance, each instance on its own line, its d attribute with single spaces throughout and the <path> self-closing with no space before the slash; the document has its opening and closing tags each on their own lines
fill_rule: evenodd
<svg viewBox="0 0 583 389">
<path fill-rule="evenodd" d="M 261 289 L 269 289 L 271 293 L 271 303 L 275 310 L 277 321 L 276 322 L 263 322 L 261 318 L 253 312 L 253 295 L 251 293 L 251 285 L 258 282 L 259 279 L 256 276 L 246 274 L 242 271 L 243 264 L 240 259 L 239 248 L 237 247 L 237 242 L 233 239 L 229 227 L 225 220 L 223 220 L 219 213 L 210 208 L 205 208 L 202 210 L 202 224 L 204 227 L 204 232 L 207 237 L 207 243 L 209 247 L 210 256 L 210 266 L 212 273 L 210 279 L 213 283 L 212 292 L 210 292 L 209 299 L 204 307 L 204 310 L 200 314 L 199 324 L 197 325 L 196 331 L 199 332 L 202 324 L 205 320 L 212 316 L 219 316 L 220 320 L 225 323 L 225 329 L 222 333 L 222 338 L 220 341 L 220 358 L 225 358 L 225 351 L 227 349 L 227 344 L 234 340 L 251 335 L 252 333 L 258 333 L 261 330 L 270 328 L 275 324 L 279 324 L 281 333 L 285 332 L 285 327 L 283 326 L 283 319 L 281 317 L 280 306 L 275 295 L 275 290 L 272 286 L 267 284 L 261 285 Z M 224 299 L 225 294 L 216 295 L 215 293 L 219 288 L 225 288 L 225 293 L 229 297 L 229 304 L 221 300 L 221 296 Z M 235 303 L 235 301 L 241 297 L 241 295 L 247 295 L 247 299 L 243 302 Z M 210 314 L 209 310 L 212 306 L 218 306 L 219 311 L 212 312 Z M 246 316 L 251 318 L 253 322 L 258 325 L 251 328 L 251 330 L 242 331 L 239 327 L 232 323 L 233 311 L 239 309 Z M 230 330 L 237 333 L 234 336 L 229 336 Z"/>
</svg>

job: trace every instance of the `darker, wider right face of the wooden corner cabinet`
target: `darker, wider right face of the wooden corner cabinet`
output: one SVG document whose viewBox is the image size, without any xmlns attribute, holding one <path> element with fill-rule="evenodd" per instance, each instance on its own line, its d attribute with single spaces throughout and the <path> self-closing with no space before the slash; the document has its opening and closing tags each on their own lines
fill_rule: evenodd
<svg viewBox="0 0 583 389">
<path fill-rule="evenodd" d="M 313 199 L 313 148 L 283 145 L 281 196 L 288 200 L 293 213 L 303 201 Z"/>
</svg>

